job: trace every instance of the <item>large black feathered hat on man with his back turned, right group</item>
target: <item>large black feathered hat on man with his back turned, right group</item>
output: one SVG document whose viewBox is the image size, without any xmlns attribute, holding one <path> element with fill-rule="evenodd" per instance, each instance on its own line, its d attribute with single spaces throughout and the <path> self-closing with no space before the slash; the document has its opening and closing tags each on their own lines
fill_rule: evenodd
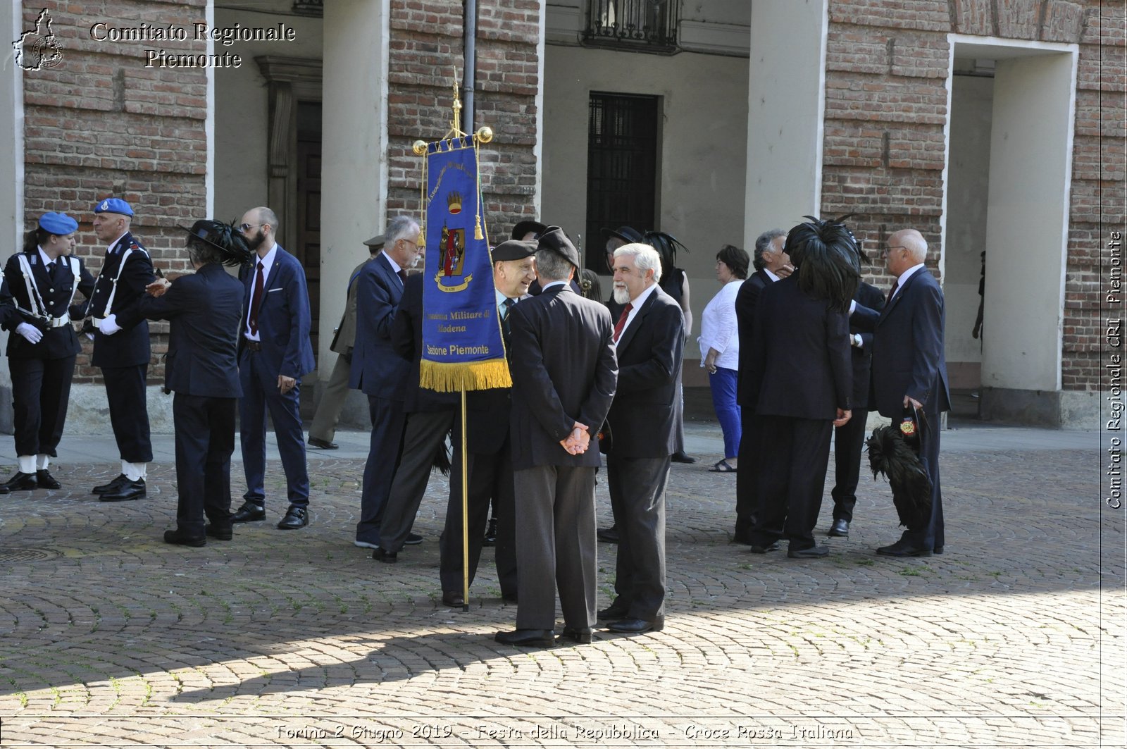
<svg viewBox="0 0 1127 749">
<path fill-rule="evenodd" d="M 861 249 L 843 223 L 849 215 L 825 221 L 813 215 L 802 218 L 809 221 L 791 229 L 783 246 L 798 268 L 798 288 L 844 312 L 861 280 Z"/>
</svg>

